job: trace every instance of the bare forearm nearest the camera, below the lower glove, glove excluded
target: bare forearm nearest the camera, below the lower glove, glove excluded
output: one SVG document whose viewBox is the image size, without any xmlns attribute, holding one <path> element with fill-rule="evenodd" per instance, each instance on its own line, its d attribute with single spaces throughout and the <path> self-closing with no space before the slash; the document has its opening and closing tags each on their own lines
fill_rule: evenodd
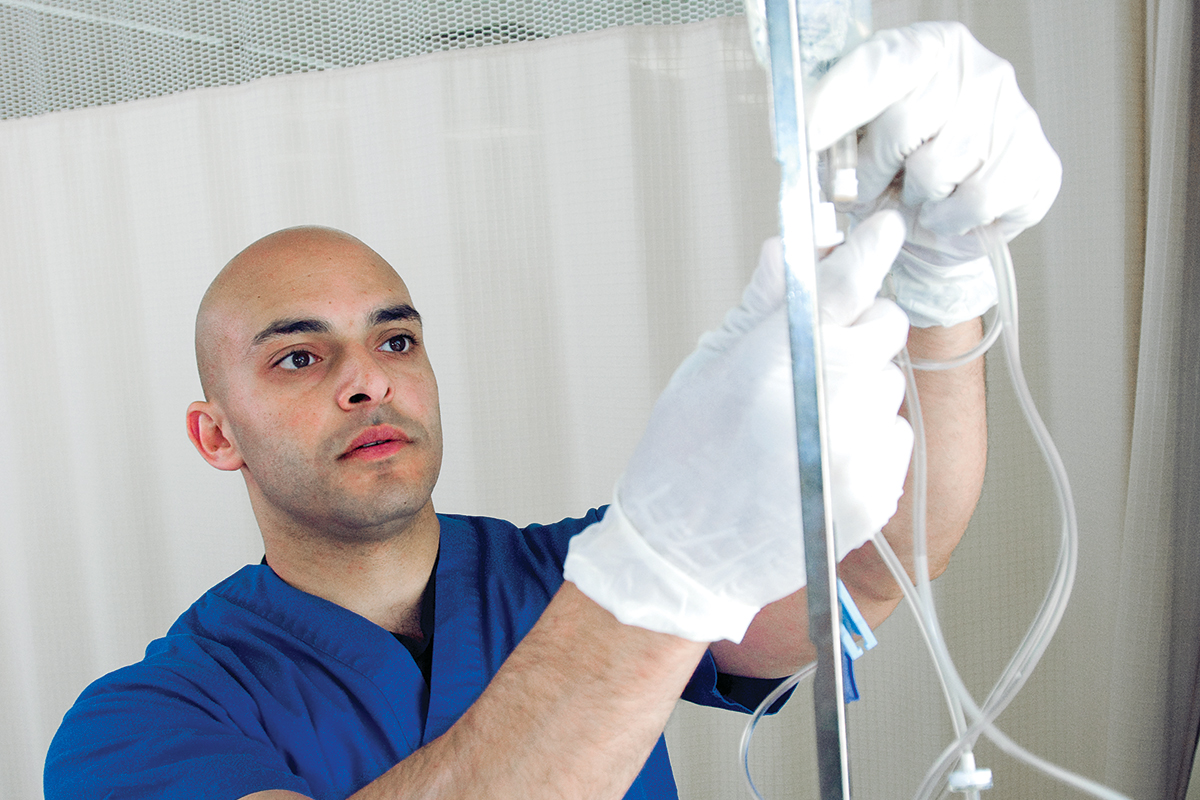
<svg viewBox="0 0 1200 800">
<path fill-rule="evenodd" d="M 564 583 L 454 727 L 353 798 L 622 798 L 704 648 L 622 625 Z"/>
</svg>

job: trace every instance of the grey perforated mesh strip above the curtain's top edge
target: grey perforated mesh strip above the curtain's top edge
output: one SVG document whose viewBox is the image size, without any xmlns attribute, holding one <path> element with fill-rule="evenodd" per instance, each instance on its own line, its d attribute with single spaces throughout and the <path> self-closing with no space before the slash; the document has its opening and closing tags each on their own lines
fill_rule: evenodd
<svg viewBox="0 0 1200 800">
<path fill-rule="evenodd" d="M 742 0 L 0 0 L 0 119 L 739 13 Z"/>
</svg>

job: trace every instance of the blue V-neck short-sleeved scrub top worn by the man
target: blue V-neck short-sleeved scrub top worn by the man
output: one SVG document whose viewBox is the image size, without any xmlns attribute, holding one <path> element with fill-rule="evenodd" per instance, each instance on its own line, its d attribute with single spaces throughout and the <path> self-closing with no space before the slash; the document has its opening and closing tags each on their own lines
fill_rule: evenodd
<svg viewBox="0 0 1200 800">
<path fill-rule="evenodd" d="M 389 631 L 244 567 L 84 691 L 50 745 L 46 799 L 344 800 L 475 702 L 562 584 L 571 536 L 602 513 L 524 529 L 439 515 L 431 685 Z M 745 711 L 775 684 L 718 676 L 706 655 L 684 698 Z M 625 796 L 678 796 L 661 738 Z"/>
</svg>

